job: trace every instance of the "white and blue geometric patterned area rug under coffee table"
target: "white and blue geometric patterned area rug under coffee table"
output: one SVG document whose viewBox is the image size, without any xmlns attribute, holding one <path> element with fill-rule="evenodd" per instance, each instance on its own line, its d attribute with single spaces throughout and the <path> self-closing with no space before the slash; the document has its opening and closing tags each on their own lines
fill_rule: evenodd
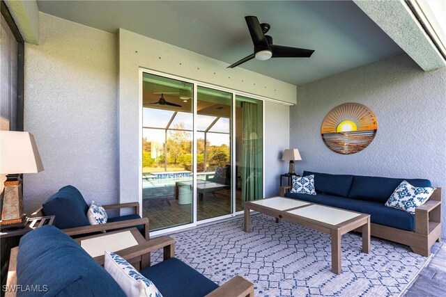
<svg viewBox="0 0 446 297">
<path fill-rule="evenodd" d="M 342 273 L 335 275 L 330 235 L 263 214 L 252 216 L 249 233 L 243 218 L 234 218 L 171 236 L 178 259 L 217 284 L 243 276 L 256 296 L 399 296 L 428 260 L 374 237 L 364 254 L 360 234 L 345 234 Z"/>
</svg>

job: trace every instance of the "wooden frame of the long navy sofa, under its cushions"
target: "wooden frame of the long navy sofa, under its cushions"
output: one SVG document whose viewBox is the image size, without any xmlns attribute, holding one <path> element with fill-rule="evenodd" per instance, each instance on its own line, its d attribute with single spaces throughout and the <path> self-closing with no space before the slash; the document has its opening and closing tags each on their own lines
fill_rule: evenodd
<svg viewBox="0 0 446 297">
<path fill-rule="evenodd" d="M 282 186 L 280 196 L 285 197 L 290 188 Z M 355 231 L 361 232 L 360 229 Z M 371 223 L 370 232 L 371 236 L 405 244 L 413 252 L 429 257 L 433 243 L 441 242 L 441 188 L 436 188 L 429 200 L 415 209 L 415 231 Z"/>
</svg>

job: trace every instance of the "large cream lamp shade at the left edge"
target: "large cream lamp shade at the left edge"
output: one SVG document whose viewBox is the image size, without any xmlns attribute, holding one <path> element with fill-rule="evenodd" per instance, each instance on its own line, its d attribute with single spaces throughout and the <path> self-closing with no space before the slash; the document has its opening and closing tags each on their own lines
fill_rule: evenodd
<svg viewBox="0 0 446 297">
<path fill-rule="evenodd" d="M 0 174 L 36 173 L 43 170 L 33 134 L 0 131 Z"/>
</svg>

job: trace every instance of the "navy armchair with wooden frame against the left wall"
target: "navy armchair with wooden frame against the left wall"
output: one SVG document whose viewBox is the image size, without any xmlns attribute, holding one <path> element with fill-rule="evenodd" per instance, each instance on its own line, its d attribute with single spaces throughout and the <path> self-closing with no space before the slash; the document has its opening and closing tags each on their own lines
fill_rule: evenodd
<svg viewBox="0 0 446 297">
<path fill-rule="evenodd" d="M 49 197 L 42 207 L 31 214 L 36 216 L 56 216 L 54 225 L 70 236 L 79 236 L 94 232 L 112 231 L 122 228 L 137 227 L 144 238 L 149 239 L 148 218 L 139 216 L 139 202 L 102 205 L 104 209 L 132 208 L 134 214 L 108 218 L 107 223 L 90 225 L 86 216 L 89 205 L 74 186 L 64 186 Z"/>
</svg>

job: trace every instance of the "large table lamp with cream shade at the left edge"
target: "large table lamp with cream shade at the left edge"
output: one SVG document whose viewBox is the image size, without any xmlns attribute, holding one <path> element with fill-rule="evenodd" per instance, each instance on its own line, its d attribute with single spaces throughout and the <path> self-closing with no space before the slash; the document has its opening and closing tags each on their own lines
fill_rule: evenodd
<svg viewBox="0 0 446 297">
<path fill-rule="evenodd" d="M 42 170 L 43 165 L 33 134 L 0 131 L 0 174 L 6 174 L 0 221 L 2 227 L 26 223 L 20 175 Z"/>
</svg>

